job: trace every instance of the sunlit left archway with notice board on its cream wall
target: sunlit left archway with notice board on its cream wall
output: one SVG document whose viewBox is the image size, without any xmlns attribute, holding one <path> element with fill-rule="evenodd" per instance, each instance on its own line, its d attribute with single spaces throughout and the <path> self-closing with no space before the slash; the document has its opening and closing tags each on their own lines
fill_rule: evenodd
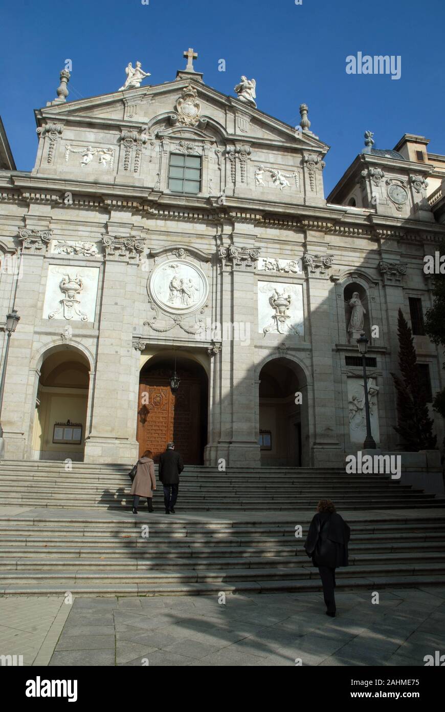
<svg viewBox="0 0 445 712">
<path fill-rule="evenodd" d="M 81 352 L 60 347 L 43 357 L 33 425 L 33 456 L 83 461 L 90 364 Z"/>
</svg>

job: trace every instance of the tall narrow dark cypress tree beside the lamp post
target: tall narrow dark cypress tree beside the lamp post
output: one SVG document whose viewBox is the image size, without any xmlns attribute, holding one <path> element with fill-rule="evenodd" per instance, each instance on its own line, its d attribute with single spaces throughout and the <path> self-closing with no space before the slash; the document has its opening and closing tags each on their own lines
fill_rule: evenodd
<svg viewBox="0 0 445 712">
<path fill-rule="evenodd" d="M 432 433 L 433 421 L 429 417 L 426 394 L 417 371 L 417 354 L 412 330 L 399 309 L 397 320 L 399 337 L 399 368 L 402 377 L 392 373 L 397 393 L 397 426 L 395 431 L 402 437 L 407 451 L 432 450 L 436 436 Z"/>
</svg>

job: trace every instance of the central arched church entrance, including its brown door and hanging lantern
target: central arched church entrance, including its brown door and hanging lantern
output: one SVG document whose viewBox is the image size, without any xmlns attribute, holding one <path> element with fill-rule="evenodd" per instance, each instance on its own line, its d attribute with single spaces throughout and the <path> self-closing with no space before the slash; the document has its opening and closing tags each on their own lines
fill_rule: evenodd
<svg viewBox="0 0 445 712">
<path fill-rule="evenodd" d="M 171 391 L 174 355 L 156 355 L 141 369 L 136 439 L 139 456 L 153 453 L 154 461 L 175 443 L 185 464 L 202 465 L 207 444 L 208 378 L 200 363 L 176 356 L 176 373 L 181 379 L 176 393 Z"/>
</svg>

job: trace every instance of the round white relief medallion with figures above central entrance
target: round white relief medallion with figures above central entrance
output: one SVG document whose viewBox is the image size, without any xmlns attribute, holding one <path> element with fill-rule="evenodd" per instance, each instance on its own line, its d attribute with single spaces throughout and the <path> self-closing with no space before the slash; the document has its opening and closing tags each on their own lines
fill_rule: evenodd
<svg viewBox="0 0 445 712">
<path fill-rule="evenodd" d="M 171 314 L 200 309 L 208 297 L 205 274 L 186 260 L 168 260 L 155 267 L 147 287 L 154 302 Z"/>
</svg>

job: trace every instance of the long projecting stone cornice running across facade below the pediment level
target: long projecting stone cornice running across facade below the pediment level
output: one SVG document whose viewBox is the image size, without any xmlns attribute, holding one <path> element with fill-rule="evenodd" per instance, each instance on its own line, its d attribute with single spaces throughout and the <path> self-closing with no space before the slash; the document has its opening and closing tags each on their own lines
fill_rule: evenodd
<svg viewBox="0 0 445 712">
<path fill-rule="evenodd" d="M 66 201 L 67 194 L 70 196 L 69 203 Z M 211 223 L 246 222 L 265 227 L 319 231 L 341 237 L 386 239 L 417 244 L 439 244 L 445 239 L 443 225 L 414 220 L 401 222 L 393 218 L 377 217 L 375 214 L 353 216 L 348 214 L 343 206 L 291 206 L 277 203 L 272 207 L 268 201 L 244 197 L 225 197 L 223 205 L 204 197 L 186 198 L 178 204 L 175 196 L 142 187 L 65 180 L 61 189 L 60 180 L 55 177 L 40 177 L 21 172 L 0 174 L 0 202 L 64 206 L 67 219 L 72 206 L 75 209 L 102 207 L 154 216 L 158 219 Z"/>
</svg>

